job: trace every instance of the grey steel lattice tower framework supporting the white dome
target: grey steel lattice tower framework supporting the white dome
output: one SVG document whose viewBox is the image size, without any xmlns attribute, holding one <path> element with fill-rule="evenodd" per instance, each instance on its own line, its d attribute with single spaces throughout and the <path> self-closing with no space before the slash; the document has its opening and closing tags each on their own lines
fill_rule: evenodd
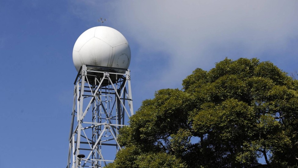
<svg viewBox="0 0 298 168">
<path fill-rule="evenodd" d="M 113 162 L 122 150 L 118 130 L 131 115 L 129 70 L 83 65 L 74 82 L 67 168 Z"/>
</svg>

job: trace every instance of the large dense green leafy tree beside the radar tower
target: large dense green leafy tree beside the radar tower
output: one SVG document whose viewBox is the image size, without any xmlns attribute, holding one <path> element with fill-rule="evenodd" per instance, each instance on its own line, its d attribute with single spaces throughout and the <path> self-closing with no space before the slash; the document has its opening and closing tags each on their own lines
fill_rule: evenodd
<svg viewBox="0 0 298 168">
<path fill-rule="evenodd" d="M 297 121 L 297 80 L 268 61 L 226 58 L 144 100 L 107 167 L 297 167 Z"/>
</svg>

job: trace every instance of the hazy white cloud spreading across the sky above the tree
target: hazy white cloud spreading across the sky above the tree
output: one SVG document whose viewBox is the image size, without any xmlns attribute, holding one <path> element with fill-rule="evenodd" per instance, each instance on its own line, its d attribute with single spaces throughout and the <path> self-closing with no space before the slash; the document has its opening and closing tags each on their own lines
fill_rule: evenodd
<svg viewBox="0 0 298 168">
<path fill-rule="evenodd" d="M 77 1 L 78 15 L 105 15 L 121 27 L 142 53 L 165 53 L 166 66 L 147 82 L 179 87 L 195 68 L 209 70 L 225 57 L 281 59 L 273 54 L 289 48 L 298 37 L 298 1 Z M 78 7 L 78 6 L 77 6 Z M 100 15 L 99 15 L 100 14 Z M 96 18 L 97 19 L 97 18 Z M 131 42 L 130 42 L 131 43 Z M 292 56 L 293 57 L 293 56 Z M 294 69 L 294 68 L 293 68 Z M 144 70 L 145 71 L 145 70 Z"/>
</svg>

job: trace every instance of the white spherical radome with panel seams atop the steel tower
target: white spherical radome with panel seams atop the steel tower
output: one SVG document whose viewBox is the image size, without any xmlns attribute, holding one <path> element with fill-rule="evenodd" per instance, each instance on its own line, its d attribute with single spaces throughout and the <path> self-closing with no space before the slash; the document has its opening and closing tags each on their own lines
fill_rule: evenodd
<svg viewBox="0 0 298 168">
<path fill-rule="evenodd" d="M 111 27 L 98 26 L 86 30 L 78 37 L 72 59 L 77 71 L 82 65 L 127 69 L 130 54 L 129 44 L 119 31 Z"/>
</svg>

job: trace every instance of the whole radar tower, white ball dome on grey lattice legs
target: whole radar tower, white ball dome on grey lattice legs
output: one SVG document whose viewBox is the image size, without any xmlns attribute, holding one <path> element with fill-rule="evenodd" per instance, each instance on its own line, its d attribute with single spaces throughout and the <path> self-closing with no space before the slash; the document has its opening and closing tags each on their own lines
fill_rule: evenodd
<svg viewBox="0 0 298 168">
<path fill-rule="evenodd" d="M 75 42 L 72 58 L 78 75 L 67 168 L 104 167 L 122 150 L 118 131 L 133 115 L 130 57 L 127 40 L 111 27 L 92 27 Z"/>
</svg>

